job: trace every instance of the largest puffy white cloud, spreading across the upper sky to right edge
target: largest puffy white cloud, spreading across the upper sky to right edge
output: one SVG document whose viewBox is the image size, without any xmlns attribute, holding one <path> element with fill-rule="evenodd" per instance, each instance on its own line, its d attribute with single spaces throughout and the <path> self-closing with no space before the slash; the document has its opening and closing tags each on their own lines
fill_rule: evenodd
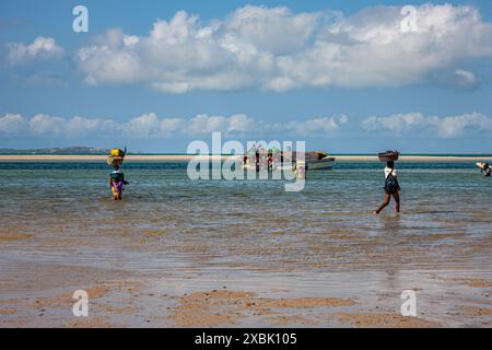
<svg viewBox="0 0 492 350">
<path fill-rule="evenodd" d="M 208 23 L 179 11 L 147 36 L 110 30 L 80 48 L 77 62 L 91 85 L 145 83 L 165 93 L 401 86 L 436 72 L 458 88 L 476 84 L 459 65 L 492 57 L 492 25 L 468 5 L 415 9 L 410 32 L 400 7 L 344 16 L 247 5 Z"/>
</svg>

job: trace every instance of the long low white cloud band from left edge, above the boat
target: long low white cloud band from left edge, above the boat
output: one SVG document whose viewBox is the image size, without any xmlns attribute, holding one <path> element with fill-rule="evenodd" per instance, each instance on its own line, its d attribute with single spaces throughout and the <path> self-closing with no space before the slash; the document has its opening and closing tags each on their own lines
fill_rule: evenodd
<svg viewBox="0 0 492 350">
<path fill-rule="evenodd" d="M 244 114 L 230 117 L 200 114 L 192 118 L 160 118 L 148 113 L 117 122 L 114 119 L 62 118 L 37 114 L 31 119 L 21 115 L 8 114 L 0 117 L 0 135 L 23 135 L 44 137 L 105 136 L 121 132 L 133 139 L 165 139 L 169 137 L 197 137 L 220 131 L 225 136 L 327 136 L 335 135 L 348 120 L 347 116 L 313 118 L 305 121 L 285 124 L 266 122 Z"/>
</svg>

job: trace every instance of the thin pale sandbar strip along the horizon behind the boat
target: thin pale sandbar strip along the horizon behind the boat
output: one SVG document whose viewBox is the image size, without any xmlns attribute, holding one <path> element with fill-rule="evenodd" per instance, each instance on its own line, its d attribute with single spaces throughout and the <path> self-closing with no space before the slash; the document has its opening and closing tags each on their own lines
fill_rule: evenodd
<svg viewBox="0 0 492 350">
<path fill-rule="evenodd" d="M 188 154 L 128 154 L 126 162 L 188 162 L 195 155 Z M 330 154 L 337 162 L 378 162 L 376 155 L 347 155 Z M 207 159 L 227 159 L 231 155 L 202 155 Z M 106 162 L 107 155 L 42 155 L 42 154 L 0 154 L 0 162 Z M 492 155 L 489 154 L 462 154 L 462 155 L 401 155 L 400 162 L 492 162 Z"/>
</svg>

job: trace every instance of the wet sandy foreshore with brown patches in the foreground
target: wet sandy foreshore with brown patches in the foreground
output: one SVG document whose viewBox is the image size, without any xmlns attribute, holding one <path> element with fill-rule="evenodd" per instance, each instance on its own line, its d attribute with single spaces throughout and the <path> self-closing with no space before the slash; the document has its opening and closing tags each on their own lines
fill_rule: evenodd
<svg viewBox="0 0 492 350">
<path fill-rule="evenodd" d="M 153 234 L 134 238 L 126 236 L 110 245 L 102 237 L 96 241 L 107 249 L 154 254 L 163 249 L 165 255 L 173 254 L 173 248 L 155 241 Z M 433 237 L 429 242 L 441 240 Z M 477 252 L 490 252 L 488 241 L 489 244 L 477 243 Z M 180 258 L 169 257 L 168 270 L 139 270 L 118 269 L 115 264 L 106 268 L 104 258 L 94 266 L 82 266 L 73 261 L 35 264 L 5 254 L 21 246 L 26 254 L 32 248 L 69 254 L 80 246 L 93 246 L 90 238 L 52 242 L 35 235 L 11 234 L 2 244 L 0 327 L 492 326 L 492 276 L 460 269 L 459 255 L 449 270 L 438 262 L 422 261 L 424 270 L 405 271 L 394 265 L 405 249 L 388 252 L 384 258 L 376 253 L 374 242 L 359 241 L 354 244 L 365 252 L 368 260 L 393 261 L 395 270 L 378 270 L 371 262 L 353 260 L 343 271 L 329 265 L 303 264 L 296 258 L 294 264 L 284 261 L 283 267 L 273 264 L 271 268 L 218 264 L 210 260 L 213 252 L 202 247 L 207 254 L 181 253 Z M 197 252 L 196 248 L 189 243 L 180 246 L 183 252 Z M 267 252 L 258 249 L 256 254 L 266 255 Z M 339 249 L 333 247 L 332 252 Z M 79 289 L 89 294 L 89 317 L 72 315 L 75 301 L 71 296 Z M 399 313 L 399 293 L 403 289 L 412 289 L 418 295 L 417 317 Z"/>
</svg>

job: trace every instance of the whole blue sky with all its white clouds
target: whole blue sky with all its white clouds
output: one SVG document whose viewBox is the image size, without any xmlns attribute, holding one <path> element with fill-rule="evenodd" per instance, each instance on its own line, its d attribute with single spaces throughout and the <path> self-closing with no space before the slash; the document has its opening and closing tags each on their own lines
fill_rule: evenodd
<svg viewBox="0 0 492 350">
<path fill-rule="evenodd" d="M 0 148 L 492 153 L 488 0 L 1 0 L 0 62 Z"/>
</svg>

